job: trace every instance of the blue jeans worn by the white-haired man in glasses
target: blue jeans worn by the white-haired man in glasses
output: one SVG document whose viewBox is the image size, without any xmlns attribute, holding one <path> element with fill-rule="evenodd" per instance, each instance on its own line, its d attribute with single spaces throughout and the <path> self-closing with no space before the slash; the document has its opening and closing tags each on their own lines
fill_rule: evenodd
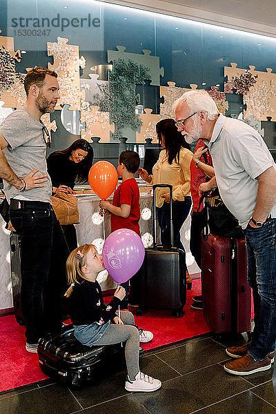
<svg viewBox="0 0 276 414">
<path fill-rule="evenodd" d="M 276 219 L 245 230 L 248 284 L 253 289 L 254 322 L 248 353 L 261 361 L 275 351 L 276 341 Z"/>
</svg>

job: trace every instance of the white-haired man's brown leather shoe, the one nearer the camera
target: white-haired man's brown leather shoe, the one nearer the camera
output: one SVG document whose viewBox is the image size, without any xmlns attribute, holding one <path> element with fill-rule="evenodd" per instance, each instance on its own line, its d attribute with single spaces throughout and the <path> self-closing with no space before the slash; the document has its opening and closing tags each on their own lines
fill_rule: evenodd
<svg viewBox="0 0 276 414">
<path fill-rule="evenodd" d="M 248 353 L 244 357 L 233 359 L 233 361 L 227 362 L 224 365 L 225 371 L 233 375 L 250 375 L 266 371 L 269 368 L 271 368 L 269 356 L 262 361 L 254 361 Z"/>
</svg>

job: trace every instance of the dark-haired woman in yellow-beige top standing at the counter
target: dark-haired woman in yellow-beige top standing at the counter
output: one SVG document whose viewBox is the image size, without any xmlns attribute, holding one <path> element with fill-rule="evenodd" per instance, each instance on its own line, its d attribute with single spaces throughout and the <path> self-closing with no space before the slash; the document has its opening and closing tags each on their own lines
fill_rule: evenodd
<svg viewBox="0 0 276 414">
<path fill-rule="evenodd" d="M 144 168 L 138 174 L 148 184 L 172 185 L 173 245 L 184 250 L 180 240 L 180 229 L 186 220 L 192 200 L 190 197 L 190 161 L 193 152 L 181 132 L 177 131 L 174 119 L 162 119 L 156 125 L 159 144 L 164 147 L 152 168 L 152 175 Z M 161 243 L 170 244 L 170 195 L 168 188 L 157 188 L 157 219 L 161 228 Z M 184 250 L 185 251 L 185 250 Z"/>
</svg>

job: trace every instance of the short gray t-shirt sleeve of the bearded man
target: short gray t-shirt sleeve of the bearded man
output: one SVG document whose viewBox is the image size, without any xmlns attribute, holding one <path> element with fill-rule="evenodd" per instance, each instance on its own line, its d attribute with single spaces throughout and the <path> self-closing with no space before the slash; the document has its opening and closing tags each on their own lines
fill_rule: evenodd
<svg viewBox="0 0 276 414">
<path fill-rule="evenodd" d="M 21 114 L 17 114 L 16 110 L 8 115 L 0 125 L 0 133 L 8 142 L 9 150 L 26 144 L 30 139 L 27 133 L 26 119 Z"/>
</svg>

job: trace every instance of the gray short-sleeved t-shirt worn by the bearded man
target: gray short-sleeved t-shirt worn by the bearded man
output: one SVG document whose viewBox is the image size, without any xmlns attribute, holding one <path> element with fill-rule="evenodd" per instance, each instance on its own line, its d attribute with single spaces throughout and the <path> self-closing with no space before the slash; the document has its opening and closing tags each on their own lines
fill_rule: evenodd
<svg viewBox="0 0 276 414">
<path fill-rule="evenodd" d="M 10 168 L 19 177 L 25 177 L 32 170 L 38 168 L 37 174 L 47 174 L 46 143 L 43 139 L 43 126 L 34 119 L 26 108 L 14 110 L 0 125 L 0 133 L 8 142 L 8 147 L 3 149 Z M 24 193 L 3 180 L 4 193 L 10 201 L 11 198 L 21 195 L 23 199 L 44 201 L 50 203 L 52 183 L 50 176 L 43 183 L 44 187 L 32 188 Z"/>
</svg>

